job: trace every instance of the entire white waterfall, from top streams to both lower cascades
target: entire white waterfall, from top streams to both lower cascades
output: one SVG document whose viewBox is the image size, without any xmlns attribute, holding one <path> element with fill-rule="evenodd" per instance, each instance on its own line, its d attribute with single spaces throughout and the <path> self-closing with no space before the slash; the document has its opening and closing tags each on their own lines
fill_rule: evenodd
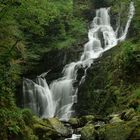
<svg viewBox="0 0 140 140">
<path fill-rule="evenodd" d="M 93 61 L 126 38 L 134 10 L 134 4 L 131 2 L 128 20 L 120 36 L 110 24 L 110 8 L 96 10 L 96 16 L 88 32 L 89 41 L 84 45 L 81 58 L 63 68 L 63 77 L 52 81 L 49 86 L 44 78 L 47 73 L 38 76 L 35 82 L 23 79 L 24 107 L 30 108 L 42 118 L 58 117 L 67 121 L 74 112 L 73 104 L 77 103 L 78 89 L 73 87 L 73 83 L 76 81 L 78 69 L 81 67 L 85 69 L 85 75 L 79 82 L 81 84 L 86 77 L 86 70 Z"/>
</svg>

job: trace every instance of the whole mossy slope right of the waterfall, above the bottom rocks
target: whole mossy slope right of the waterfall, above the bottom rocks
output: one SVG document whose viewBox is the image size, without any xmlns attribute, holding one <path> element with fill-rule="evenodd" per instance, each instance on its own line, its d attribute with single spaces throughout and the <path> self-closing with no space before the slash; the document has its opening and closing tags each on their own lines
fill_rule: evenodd
<svg viewBox="0 0 140 140">
<path fill-rule="evenodd" d="M 126 41 L 95 60 L 87 70 L 85 83 L 79 87 L 77 112 L 80 115 L 105 116 L 123 111 L 130 106 L 138 110 L 138 54 L 139 45 Z"/>
</svg>

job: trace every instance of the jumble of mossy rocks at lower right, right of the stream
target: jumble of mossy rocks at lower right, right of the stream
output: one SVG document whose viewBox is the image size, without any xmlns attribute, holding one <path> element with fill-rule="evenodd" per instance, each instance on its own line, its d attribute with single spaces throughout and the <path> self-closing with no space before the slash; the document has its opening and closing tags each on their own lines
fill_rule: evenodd
<svg viewBox="0 0 140 140">
<path fill-rule="evenodd" d="M 84 126 L 77 127 L 77 133 L 81 135 L 81 140 L 139 140 L 140 117 L 136 112 L 135 115 L 134 112 L 130 113 L 132 110 L 110 114 L 104 121 L 101 121 L 97 116 L 90 115 L 90 118 L 92 116 L 94 119 L 87 120 Z M 131 119 L 126 120 L 125 115 Z M 89 116 L 83 117 L 88 118 Z M 79 124 L 82 123 L 80 122 L 81 118 L 76 118 L 76 120 Z"/>
</svg>

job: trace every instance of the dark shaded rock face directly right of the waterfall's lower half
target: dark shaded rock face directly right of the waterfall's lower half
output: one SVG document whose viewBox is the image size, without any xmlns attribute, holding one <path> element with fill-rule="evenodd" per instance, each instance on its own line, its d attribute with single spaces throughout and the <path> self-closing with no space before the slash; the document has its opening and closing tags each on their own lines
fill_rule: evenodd
<svg viewBox="0 0 140 140">
<path fill-rule="evenodd" d="M 78 90 L 77 114 L 105 115 L 111 112 L 116 104 L 116 96 L 106 90 L 109 84 L 108 77 L 112 67 L 111 60 L 116 48 L 104 53 L 94 61 L 88 69 L 85 82 Z"/>
</svg>

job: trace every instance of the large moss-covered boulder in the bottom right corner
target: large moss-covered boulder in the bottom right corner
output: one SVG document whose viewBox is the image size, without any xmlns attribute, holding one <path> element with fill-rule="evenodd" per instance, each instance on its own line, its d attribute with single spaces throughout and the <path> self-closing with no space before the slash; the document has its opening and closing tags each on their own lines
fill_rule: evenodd
<svg viewBox="0 0 140 140">
<path fill-rule="evenodd" d="M 99 139 L 103 140 L 129 140 L 139 137 L 139 121 L 119 122 L 107 124 L 99 129 Z M 136 134 L 137 133 L 137 134 Z M 136 134 L 136 135 L 133 135 Z"/>
</svg>

